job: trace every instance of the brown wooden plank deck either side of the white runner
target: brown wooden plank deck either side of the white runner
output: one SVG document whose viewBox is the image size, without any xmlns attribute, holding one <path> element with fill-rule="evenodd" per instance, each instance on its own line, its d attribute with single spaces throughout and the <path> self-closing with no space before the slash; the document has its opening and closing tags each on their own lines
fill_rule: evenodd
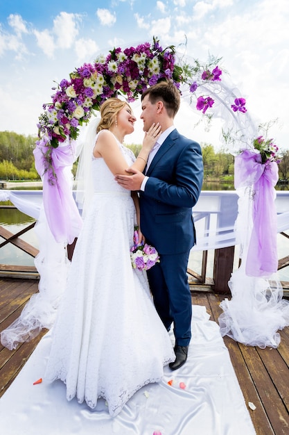
<svg viewBox="0 0 289 435">
<path fill-rule="evenodd" d="M 19 316 L 30 295 L 37 290 L 37 279 L 0 279 L 0 331 Z M 192 291 L 193 304 L 206 306 L 211 320 L 216 322 L 222 312 L 220 300 L 224 297 L 226 295 Z M 14 351 L 0 345 L 0 397 L 44 334 L 46 331 Z M 224 340 L 245 402 L 256 406 L 255 411 L 248 407 L 256 434 L 289 434 L 289 328 L 281 331 L 278 349 L 261 350 L 240 345 L 227 336 Z"/>
</svg>

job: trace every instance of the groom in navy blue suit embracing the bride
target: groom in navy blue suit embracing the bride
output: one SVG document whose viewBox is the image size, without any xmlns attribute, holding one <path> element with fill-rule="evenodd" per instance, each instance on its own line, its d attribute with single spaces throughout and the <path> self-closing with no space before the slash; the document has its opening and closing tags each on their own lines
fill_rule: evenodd
<svg viewBox="0 0 289 435">
<path fill-rule="evenodd" d="M 141 97 L 143 130 L 153 122 L 161 125 L 161 136 L 150 152 L 146 175 L 137 170 L 116 175 L 128 190 L 139 190 L 141 232 L 154 246 L 160 263 L 148 270 L 155 307 L 169 331 L 175 334 L 176 370 L 186 362 L 191 340 L 191 293 L 186 275 L 189 253 L 195 245 L 192 207 L 200 195 L 203 177 L 200 145 L 180 135 L 173 120 L 180 104 L 179 90 L 168 81 L 146 89 Z"/>
</svg>

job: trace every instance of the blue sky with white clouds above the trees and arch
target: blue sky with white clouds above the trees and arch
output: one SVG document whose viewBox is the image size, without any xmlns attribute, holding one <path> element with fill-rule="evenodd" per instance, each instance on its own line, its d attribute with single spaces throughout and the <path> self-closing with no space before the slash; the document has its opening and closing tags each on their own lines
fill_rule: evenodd
<svg viewBox="0 0 289 435">
<path fill-rule="evenodd" d="M 0 131 L 36 134 L 53 81 L 114 46 L 151 42 L 156 35 L 161 45 L 181 51 L 187 40 L 191 58 L 222 57 L 256 122 L 278 118 L 271 136 L 286 148 L 288 22 L 287 0 L 0 0 Z M 139 104 L 134 110 L 139 115 Z M 219 127 L 193 129 L 194 116 L 182 108 L 177 128 L 218 146 Z M 132 142 L 141 142 L 141 127 Z"/>
</svg>

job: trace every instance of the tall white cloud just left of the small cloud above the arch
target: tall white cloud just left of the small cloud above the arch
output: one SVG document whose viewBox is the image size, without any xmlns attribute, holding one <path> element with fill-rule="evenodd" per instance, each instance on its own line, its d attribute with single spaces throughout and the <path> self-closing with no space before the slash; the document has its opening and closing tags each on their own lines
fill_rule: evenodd
<svg viewBox="0 0 289 435">
<path fill-rule="evenodd" d="M 80 15 L 61 12 L 53 19 L 53 33 L 57 38 L 57 45 L 62 49 L 71 48 L 78 35 L 78 21 Z"/>
</svg>

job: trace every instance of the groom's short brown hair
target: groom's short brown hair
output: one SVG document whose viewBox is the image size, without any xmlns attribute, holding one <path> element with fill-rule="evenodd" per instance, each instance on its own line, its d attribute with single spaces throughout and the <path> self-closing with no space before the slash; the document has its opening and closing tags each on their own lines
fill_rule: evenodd
<svg viewBox="0 0 289 435">
<path fill-rule="evenodd" d="M 156 85 L 150 86 L 141 95 L 141 101 L 146 95 L 152 104 L 158 100 L 163 101 L 168 116 L 175 117 L 177 110 L 179 110 L 181 96 L 173 81 L 160 81 Z"/>
</svg>

